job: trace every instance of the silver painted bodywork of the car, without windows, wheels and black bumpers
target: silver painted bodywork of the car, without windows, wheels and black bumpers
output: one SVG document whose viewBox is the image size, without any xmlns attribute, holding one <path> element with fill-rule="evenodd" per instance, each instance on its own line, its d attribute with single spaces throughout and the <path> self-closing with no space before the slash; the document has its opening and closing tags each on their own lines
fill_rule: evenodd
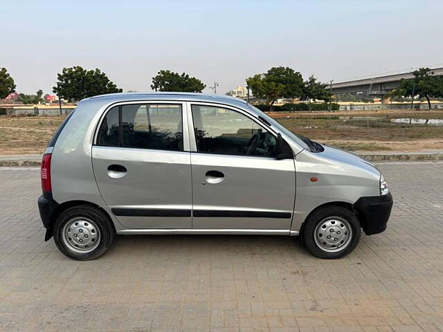
<svg viewBox="0 0 443 332">
<path fill-rule="evenodd" d="M 114 104 L 162 101 L 183 102 L 183 105 L 186 103 L 219 104 L 222 107 L 237 109 L 266 127 L 257 120 L 257 117 L 263 116 L 263 113 L 249 107 L 243 100 L 223 95 L 116 93 L 82 100 L 60 133 L 53 148 L 51 180 L 55 201 L 57 203 L 88 201 L 99 205 L 111 216 L 116 231 L 120 234 L 171 234 L 173 232 L 200 232 L 202 234 L 208 232 L 218 234 L 289 234 L 290 232 L 298 234 L 306 216 L 319 205 L 334 201 L 354 203 L 360 196 L 379 195 L 380 174 L 372 165 L 357 156 L 331 147 L 326 147 L 325 151 L 320 153 L 307 151 L 291 139 L 286 131 L 281 130 L 280 124 L 267 116 L 266 120 L 269 119 L 269 122 L 274 125 L 266 127 L 266 129 L 275 134 L 282 134 L 284 140 L 293 150 L 295 162 L 292 159 L 276 160 L 260 157 L 198 154 L 196 153 L 192 119 L 189 116 L 190 107 L 183 107 L 183 114 L 186 115 L 183 116 L 186 151 L 171 153 L 158 150 L 116 148 L 119 151 L 116 158 L 112 159 L 113 162 L 118 160 L 122 163 L 129 162 L 131 163 L 130 167 L 134 166 L 136 169 L 134 177 L 131 178 L 129 174 L 123 177 L 127 177 L 130 180 L 127 185 L 132 186 L 132 188 L 126 188 L 127 192 L 131 189 L 134 189 L 135 192 L 132 192 L 130 196 L 127 192 L 116 194 L 115 184 L 103 169 L 103 166 L 112 158 L 109 151 L 113 148 L 93 146 L 96 128 L 105 111 Z M 250 167 L 247 166 L 248 162 L 251 162 Z M 192 170 L 192 176 L 189 175 L 188 181 L 186 181 L 185 177 L 186 174 L 189 174 L 191 163 L 195 163 L 195 168 Z M 168 167 L 164 167 L 165 165 L 170 168 L 167 169 Z M 96 166 L 101 167 L 100 171 L 96 170 Z M 226 185 L 226 187 L 220 187 L 220 190 L 211 192 L 211 194 L 214 193 L 214 198 L 208 195 L 208 190 L 211 187 L 217 188 L 217 184 L 201 185 L 201 177 L 204 176 L 204 169 L 208 166 L 215 169 L 224 167 L 225 172 L 229 172 L 229 174 L 232 172 L 230 175 L 232 178 L 227 177 L 219 183 Z M 144 167 L 150 168 L 150 172 L 155 172 L 159 177 L 154 179 L 153 187 L 142 194 L 143 187 L 146 188 L 149 181 L 149 177 L 143 174 Z M 172 174 L 174 172 L 181 174 L 181 179 L 177 180 L 179 187 L 175 192 L 172 188 L 177 183 L 165 182 L 165 178 L 168 176 L 177 175 Z M 318 182 L 312 183 L 310 181 L 313 176 L 319 179 Z M 136 178 L 139 178 L 140 183 L 137 183 Z M 170 203 L 166 201 L 165 203 L 165 200 L 161 199 L 161 195 L 165 194 L 159 190 L 162 181 L 168 185 L 169 197 L 172 195 L 176 201 Z M 245 181 L 247 181 L 247 185 L 245 185 Z M 101 183 L 101 193 L 97 183 Z M 186 194 L 190 193 L 192 186 L 195 187 L 193 203 Z M 114 193 L 112 193 L 113 190 Z M 234 191 L 237 194 L 233 194 Z M 235 199 L 235 196 L 240 193 L 244 197 L 242 203 L 238 202 L 238 196 L 237 200 Z M 110 200 L 107 199 L 108 195 L 112 196 Z M 140 197 L 140 200 L 134 200 L 137 195 L 145 196 Z M 220 202 L 220 200 L 224 201 Z M 193 219 L 195 225 L 192 225 L 193 229 L 191 229 L 192 218 L 187 216 L 154 217 L 150 220 L 150 218 L 146 219 L 146 217 L 140 216 L 115 216 L 111 212 L 113 208 L 128 207 L 141 210 L 163 208 L 187 210 L 192 208 L 192 204 L 195 210 L 292 212 L 293 218 L 260 217 L 244 221 L 244 218 L 239 217 L 230 217 L 229 220 L 217 216 L 199 217 L 197 221 L 196 218 Z"/>
</svg>

